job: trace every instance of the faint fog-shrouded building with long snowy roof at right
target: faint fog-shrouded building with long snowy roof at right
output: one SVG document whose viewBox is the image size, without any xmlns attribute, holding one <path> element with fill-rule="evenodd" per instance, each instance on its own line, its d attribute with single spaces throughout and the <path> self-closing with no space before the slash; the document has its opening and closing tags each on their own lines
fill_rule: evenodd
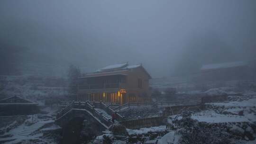
<svg viewBox="0 0 256 144">
<path fill-rule="evenodd" d="M 201 67 L 200 79 L 202 81 L 252 80 L 255 72 L 253 61 L 206 64 Z"/>
</svg>

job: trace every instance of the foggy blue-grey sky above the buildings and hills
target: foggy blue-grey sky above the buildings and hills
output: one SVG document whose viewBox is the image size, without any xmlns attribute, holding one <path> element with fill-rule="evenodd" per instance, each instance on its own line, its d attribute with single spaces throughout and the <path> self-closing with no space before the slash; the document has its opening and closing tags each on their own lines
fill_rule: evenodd
<svg viewBox="0 0 256 144">
<path fill-rule="evenodd" d="M 0 0 L 0 48 L 9 47 L 39 66 L 128 61 L 153 77 L 190 73 L 254 59 L 256 0 Z"/>
</svg>

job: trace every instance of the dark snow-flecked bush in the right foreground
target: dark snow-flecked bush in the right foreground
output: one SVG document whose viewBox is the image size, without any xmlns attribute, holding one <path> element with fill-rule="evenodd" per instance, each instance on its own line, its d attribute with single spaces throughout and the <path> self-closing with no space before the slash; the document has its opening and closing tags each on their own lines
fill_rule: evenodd
<svg viewBox="0 0 256 144">
<path fill-rule="evenodd" d="M 190 112 L 184 112 L 182 116 L 173 121 L 180 128 L 180 144 L 231 144 L 231 135 L 219 126 L 193 120 Z"/>
</svg>

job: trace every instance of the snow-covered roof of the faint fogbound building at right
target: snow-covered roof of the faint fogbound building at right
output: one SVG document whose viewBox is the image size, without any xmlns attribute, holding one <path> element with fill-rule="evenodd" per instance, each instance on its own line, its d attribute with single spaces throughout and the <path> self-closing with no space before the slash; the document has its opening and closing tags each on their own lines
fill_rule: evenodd
<svg viewBox="0 0 256 144">
<path fill-rule="evenodd" d="M 247 65 L 246 62 L 215 63 L 202 65 L 201 70 L 222 69 Z"/>
</svg>

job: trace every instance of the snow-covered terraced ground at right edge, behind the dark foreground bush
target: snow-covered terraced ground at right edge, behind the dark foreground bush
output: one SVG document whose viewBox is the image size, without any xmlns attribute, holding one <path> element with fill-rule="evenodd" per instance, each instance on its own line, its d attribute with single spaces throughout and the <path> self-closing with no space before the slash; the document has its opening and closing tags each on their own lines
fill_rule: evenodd
<svg viewBox="0 0 256 144">
<path fill-rule="evenodd" d="M 193 113 L 192 118 L 209 123 L 256 121 L 256 93 L 232 96 L 229 100 L 206 103 L 206 109 Z"/>
</svg>

